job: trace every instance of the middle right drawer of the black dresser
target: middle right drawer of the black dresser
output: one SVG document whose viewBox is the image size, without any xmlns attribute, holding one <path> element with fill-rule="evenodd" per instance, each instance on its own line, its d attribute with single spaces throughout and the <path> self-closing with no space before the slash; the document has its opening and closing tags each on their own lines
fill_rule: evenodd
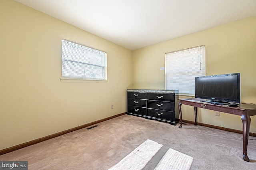
<svg viewBox="0 0 256 170">
<path fill-rule="evenodd" d="M 166 111 L 175 111 L 175 106 L 173 102 L 165 102 L 165 101 L 151 101 L 148 100 L 148 108 L 152 109 L 160 109 Z"/>
</svg>

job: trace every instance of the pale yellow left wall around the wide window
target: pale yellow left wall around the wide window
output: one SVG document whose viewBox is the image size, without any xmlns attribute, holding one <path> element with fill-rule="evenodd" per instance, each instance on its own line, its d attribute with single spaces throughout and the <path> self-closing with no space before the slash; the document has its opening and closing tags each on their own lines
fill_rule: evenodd
<svg viewBox="0 0 256 170">
<path fill-rule="evenodd" d="M 61 82 L 63 38 L 106 51 L 108 82 Z M 131 85 L 132 51 L 0 0 L 0 150 L 124 113 Z"/>
</svg>

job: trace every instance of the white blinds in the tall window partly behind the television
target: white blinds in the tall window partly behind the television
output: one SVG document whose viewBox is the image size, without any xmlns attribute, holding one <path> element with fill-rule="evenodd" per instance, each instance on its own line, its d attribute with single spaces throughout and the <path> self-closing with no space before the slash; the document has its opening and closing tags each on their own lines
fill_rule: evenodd
<svg viewBox="0 0 256 170">
<path fill-rule="evenodd" d="M 205 75 L 205 45 L 166 53 L 166 89 L 195 94 L 195 77 Z"/>
</svg>

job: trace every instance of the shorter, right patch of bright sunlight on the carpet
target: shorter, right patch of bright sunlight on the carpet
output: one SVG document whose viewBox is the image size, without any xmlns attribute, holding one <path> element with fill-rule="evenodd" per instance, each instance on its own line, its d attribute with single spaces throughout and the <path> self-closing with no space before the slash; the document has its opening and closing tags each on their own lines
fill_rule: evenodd
<svg viewBox="0 0 256 170">
<path fill-rule="evenodd" d="M 193 158 L 174 149 L 168 149 L 155 170 L 189 170 Z"/>
</svg>

